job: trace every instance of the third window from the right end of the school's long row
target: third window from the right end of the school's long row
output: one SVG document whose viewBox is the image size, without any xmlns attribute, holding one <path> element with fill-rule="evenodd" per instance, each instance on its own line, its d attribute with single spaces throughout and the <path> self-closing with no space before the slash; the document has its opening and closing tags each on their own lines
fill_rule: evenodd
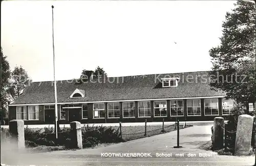
<svg viewBox="0 0 256 166">
<path fill-rule="evenodd" d="M 201 115 L 201 100 L 187 100 L 187 115 L 198 116 Z"/>
</svg>

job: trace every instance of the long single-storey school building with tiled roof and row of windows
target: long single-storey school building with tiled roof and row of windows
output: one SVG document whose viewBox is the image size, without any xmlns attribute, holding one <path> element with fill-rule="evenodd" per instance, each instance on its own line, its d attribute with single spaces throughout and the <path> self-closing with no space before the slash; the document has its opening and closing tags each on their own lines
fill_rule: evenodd
<svg viewBox="0 0 256 166">
<path fill-rule="evenodd" d="M 234 101 L 212 88 L 210 71 L 57 81 L 59 124 L 205 121 L 225 117 Z M 9 120 L 54 124 L 54 82 L 31 82 L 9 104 Z"/>
</svg>

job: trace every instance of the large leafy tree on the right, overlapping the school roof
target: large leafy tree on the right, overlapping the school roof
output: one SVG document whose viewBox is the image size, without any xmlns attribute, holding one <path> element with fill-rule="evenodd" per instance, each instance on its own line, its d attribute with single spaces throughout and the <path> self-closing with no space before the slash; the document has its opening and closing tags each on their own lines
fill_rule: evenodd
<svg viewBox="0 0 256 166">
<path fill-rule="evenodd" d="M 248 105 L 255 102 L 255 4 L 238 1 L 226 13 L 221 44 L 209 50 L 212 87 L 226 92 L 227 98 Z"/>
</svg>

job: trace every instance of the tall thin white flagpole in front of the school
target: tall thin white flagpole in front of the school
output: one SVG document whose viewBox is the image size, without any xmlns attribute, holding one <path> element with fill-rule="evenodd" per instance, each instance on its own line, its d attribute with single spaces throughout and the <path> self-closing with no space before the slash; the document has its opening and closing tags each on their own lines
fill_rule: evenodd
<svg viewBox="0 0 256 166">
<path fill-rule="evenodd" d="M 58 138 L 58 107 L 57 107 L 57 88 L 56 88 L 56 80 L 55 80 L 55 51 L 54 51 L 54 33 L 53 33 L 53 8 L 54 6 L 52 5 L 52 48 L 53 48 L 53 77 L 54 77 L 54 95 L 55 95 L 55 124 L 54 124 L 54 129 L 55 129 L 55 134 L 56 134 L 56 139 Z"/>
</svg>

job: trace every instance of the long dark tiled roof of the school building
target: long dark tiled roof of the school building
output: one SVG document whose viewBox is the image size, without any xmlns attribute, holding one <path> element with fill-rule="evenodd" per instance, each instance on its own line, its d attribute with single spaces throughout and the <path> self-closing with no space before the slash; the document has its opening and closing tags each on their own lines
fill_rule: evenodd
<svg viewBox="0 0 256 166">
<path fill-rule="evenodd" d="M 93 79 L 76 84 L 75 80 L 57 81 L 57 102 L 111 101 L 186 97 L 225 96 L 210 87 L 210 71 L 151 74 Z M 179 77 L 178 87 L 162 88 L 160 78 Z M 84 90 L 86 97 L 70 98 L 74 90 Z M 54 103 L 53 81 L 32 82 L 12 104 Z"/>
</svg>

